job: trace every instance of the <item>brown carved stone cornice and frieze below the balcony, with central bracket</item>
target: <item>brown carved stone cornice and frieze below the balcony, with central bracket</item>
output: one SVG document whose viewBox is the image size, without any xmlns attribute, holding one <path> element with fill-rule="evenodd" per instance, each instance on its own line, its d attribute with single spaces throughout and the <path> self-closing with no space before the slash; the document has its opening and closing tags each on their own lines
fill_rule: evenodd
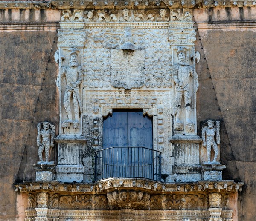
<svg viewBox="0 0 256 221">
<path fill-rule="evenodd" d="M 27 209 L 32 215 L 34 209 L 37 212 L 55 209 L 72 212 L 79 209 L 228 209 L 229 195 L 241 191 L 242 185 L 234 181 L 167 184 L 143 178 L 110 178 L 94 184 L 25 181 L 15 184 L 15 190 L 28 194 Z"/>
</svg>

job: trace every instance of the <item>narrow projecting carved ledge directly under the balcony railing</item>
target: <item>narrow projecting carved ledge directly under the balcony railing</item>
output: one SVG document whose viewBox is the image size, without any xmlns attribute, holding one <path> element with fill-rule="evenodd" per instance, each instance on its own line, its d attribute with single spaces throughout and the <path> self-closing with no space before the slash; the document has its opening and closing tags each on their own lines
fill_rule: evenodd
<svg viewBox="0 0 256 221">
<path fill-rule="evenodd" d="M 244 183 L 233 180 L 198 181 L 193 183 L 164 183 L 145 178 L 109 178 L 95 183 L 62 183 L 58 181 L 24 181 L 15 184 L 20 192 L 73 192 L 86 194 L 107 194 L 115 189 L 141 190 L 150 194 L 166 194 L 181 192 L 237 192 Z"/>
</svg>

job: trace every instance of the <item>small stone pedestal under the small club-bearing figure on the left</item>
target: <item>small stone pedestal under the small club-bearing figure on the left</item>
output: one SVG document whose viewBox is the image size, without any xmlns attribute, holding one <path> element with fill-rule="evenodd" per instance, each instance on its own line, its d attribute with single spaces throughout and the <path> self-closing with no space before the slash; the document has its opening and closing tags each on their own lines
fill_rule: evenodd
<svg viewBox="0 0 256 221">
<path fill-rule="evenodd" d="M 55 164 L 35 164 L 35 180 L 36 181 L 52 181 L 55 180 Z"/>
</svg>

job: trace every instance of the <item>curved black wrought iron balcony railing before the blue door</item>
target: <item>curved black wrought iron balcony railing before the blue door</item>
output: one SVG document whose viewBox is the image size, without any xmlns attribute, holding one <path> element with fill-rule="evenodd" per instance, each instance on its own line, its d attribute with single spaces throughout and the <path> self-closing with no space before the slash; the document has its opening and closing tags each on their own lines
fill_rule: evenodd
<svg viewBox="0 0 256 221">
<path fill-rule="evenodd" d="M 110 177 L 161 180 L 161 152 L 145 147 L 111 147 L 95 152 L 95 180 Z"/>
</svg>

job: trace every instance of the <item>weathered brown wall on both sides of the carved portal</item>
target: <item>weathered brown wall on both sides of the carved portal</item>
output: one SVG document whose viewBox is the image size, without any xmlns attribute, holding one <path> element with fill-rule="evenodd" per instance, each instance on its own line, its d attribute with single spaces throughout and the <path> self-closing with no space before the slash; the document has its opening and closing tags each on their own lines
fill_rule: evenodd
<svg viewBox="0 0 256 221">
<path fill-rule="evenodd" d="M 195 47 L 201 54 L 198 134 L 201 121 L 221 120 L 223 177 L 245 182 L 234 220 L 254 220 L 255 7 L 195 9 L 194 15 Z M 0 10 L 1 221 L 24 220 L 27 199 L 14 191 L 13 183 L 35 178 L 36 125 L 59 122 L 54 52 L 60 17 L 51 9 Z M 50 160 L 57 156 L 56 146 L 52 150 Z"/>
</svg>

